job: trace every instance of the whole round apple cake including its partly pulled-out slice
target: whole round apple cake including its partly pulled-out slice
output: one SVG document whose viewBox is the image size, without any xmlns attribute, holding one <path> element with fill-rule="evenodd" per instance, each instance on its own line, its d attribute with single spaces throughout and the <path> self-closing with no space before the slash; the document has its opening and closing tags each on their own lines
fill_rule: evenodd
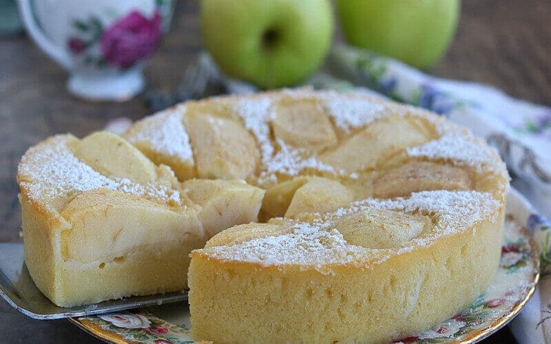
<svg viewBox="0 0 551 344">
<path fill-rule="evenodd" d="M 190 101 L 122 137 L 54 136 L 18 180 L 25 261 L 54 303 L 189 286 L 194 338 L 221 342 L 435 325 L 492 281 L 508 191 L 468 130 L 309 89 Z"/>
</svg>

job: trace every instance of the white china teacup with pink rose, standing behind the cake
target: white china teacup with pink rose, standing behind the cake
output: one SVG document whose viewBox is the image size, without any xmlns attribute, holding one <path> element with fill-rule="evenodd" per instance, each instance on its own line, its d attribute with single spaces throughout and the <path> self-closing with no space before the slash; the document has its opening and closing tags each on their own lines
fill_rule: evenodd
<svg viewBox="0 0 551 344">
<path fill-rule="evenodd" d="M 170 0 L 18 2 L 34 42 L 70 72 L 69 92 L 94 100 L 141 92 L 143 61 L 160 43 Z"/>
</svg>

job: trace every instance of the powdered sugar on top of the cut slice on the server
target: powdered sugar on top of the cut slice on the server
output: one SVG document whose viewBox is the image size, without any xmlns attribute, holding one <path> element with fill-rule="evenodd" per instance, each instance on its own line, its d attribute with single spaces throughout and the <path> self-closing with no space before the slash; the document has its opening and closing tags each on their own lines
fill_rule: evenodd
<svg viewBox="0 0 551 344">
<path fill-rule="evenodd" d="M 180 204 L 178 191 L 164 185 L 141 185 L 127 178 L 107 178 L 81 162 L 66 147 L 66 138 L 56 136 L 47 144 L 31 148 L 25 154 L 19 175 L 28 197 L 48 203 L 67 197 L 74 191 L 109 189 L 138 195 L 157 202 Z"/>
</svg>

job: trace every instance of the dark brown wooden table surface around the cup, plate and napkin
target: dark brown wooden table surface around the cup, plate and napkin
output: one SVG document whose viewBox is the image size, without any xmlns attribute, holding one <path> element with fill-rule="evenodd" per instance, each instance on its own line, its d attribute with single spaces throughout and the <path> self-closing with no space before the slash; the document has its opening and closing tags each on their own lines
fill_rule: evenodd
<svg viewBox="0 0 551 344">
<path fill-rule="evenodd" d="M 154 88 L 174 89 L 185 66 L 201 50 L 196 1 L 180 1 L 171 32 L 146 74 Z M 437 76 L 488 83 L 551 105 L 550 0 L 465 0 L 448 54 L 431 71 Z M 149 113 L 139 99 L 89 103 L 65 92 L 67 75 L 27 37 L 0 39 L 0 241 L 19 241 L 20 211 L 15 174 L 21 155 L 54 133 L 83 136 L 118 116 Z M 511 341 L 501 330 L 487 341 Z M 96 343 L 67 321 L 35 321 L 0 301 L 0 342 Z"/>
</svg>

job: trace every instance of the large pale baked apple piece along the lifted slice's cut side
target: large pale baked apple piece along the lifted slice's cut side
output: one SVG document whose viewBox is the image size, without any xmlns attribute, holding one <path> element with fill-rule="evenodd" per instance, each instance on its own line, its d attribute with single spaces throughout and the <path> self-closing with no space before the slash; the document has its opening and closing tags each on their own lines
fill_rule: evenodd
<svg viewBox="0 0 551 344">
<path fill-rule="evenodd" d="M 131 250 L 154 251 L 174 238 L 189 250 L 207 241 L 198 206 L 191 203 L 171 208 L 138 195 L 95 189 L 74 197 L 60 214 L 72 225 L 61 233 L 65 259 L 105 262 Z"/>
</svg>

